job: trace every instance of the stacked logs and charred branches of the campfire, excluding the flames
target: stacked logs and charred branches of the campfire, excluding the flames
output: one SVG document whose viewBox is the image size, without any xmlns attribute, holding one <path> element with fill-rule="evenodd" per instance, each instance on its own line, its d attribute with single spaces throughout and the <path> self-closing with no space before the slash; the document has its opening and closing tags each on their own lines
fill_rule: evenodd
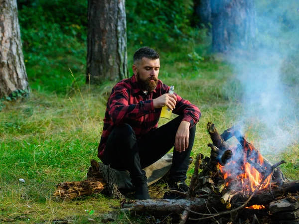
<svg viewBox="0 0 299 224">
<path fill-rule="evenodd" d="M 210 157 L 202 154 L 198 154 L 196 157 L 190 189 L 188 194 L 185 194 L 186 199 L 124 201 L 122 203 L 124 210 L 133 213 L 162 211 L 165 215 L 181 213 L 180 223 L 186 223 L 187 221 L 215 223 L 216 217 L 217 219 L 226 217 L 227 223 L 240 223 L 240 214 L 243 211 L 251 211 L 250 223 L 259 223 L 260 216 L 258 214 L 264 214 L 269 219 L 267 211 L 270 203 L 276 201 L 277 198 L 284 198 L 287 194 L 297 194 L 299 192 L 299 181 L 287 182 L 278 167 L 285 161 L 279 161 L 274 165 L 271 164 L 248 142 L 241 133 L 239 126 L 233 126 L 220 134 L 215 125 L 208 122 L 207 130 L 212 140 L 212 143 L 208 144 L 208 147 L 211 148 L 211 154 Z M 230 146 L 227 140 L 234 136 L 239 144 Z M 253 192 L 248 192 L 244 190 L 244 184 L 239 179 L 224 177 L 220 166 L 228 164 L 232 160 L 234 152 L 241 152 L 242 156 L 237 158 L 239 159 L 237 162 L 241 165 L 244 158 L 250 158 L 250 165 L 262 175 L 262 183 L 270 178 L 270 185 L 266 189 L 256 189 Z M 198 169 L 202 171 L 199 172 Z M 243 172 L 241 168 L 240 172 Z M 230 189 L 230 186 L 234 186 L 234 188 Z M 263 205 L 266 212 L 252 210 L 251 206 L 254 205 Z M 297 220 L 299 210 L 297 211 L 298 208 L 295 205 L 292 208 L 294 211 L 286 217 Z M 245 221 L 243 220 L 243 222 Z"/>
</svg>

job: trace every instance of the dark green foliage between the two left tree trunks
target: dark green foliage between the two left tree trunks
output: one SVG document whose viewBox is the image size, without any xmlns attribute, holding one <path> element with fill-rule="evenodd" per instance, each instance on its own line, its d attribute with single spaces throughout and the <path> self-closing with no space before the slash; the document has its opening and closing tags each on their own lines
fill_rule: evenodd
<svg viewBox="0 0 299 224">
<path fill-rule="evenodd" d="M 83 83 L 87 2 L 20 0 L 18 8 L 30 87 L 65 94 L 73 82 L 69 69 Z"/>
</svg>

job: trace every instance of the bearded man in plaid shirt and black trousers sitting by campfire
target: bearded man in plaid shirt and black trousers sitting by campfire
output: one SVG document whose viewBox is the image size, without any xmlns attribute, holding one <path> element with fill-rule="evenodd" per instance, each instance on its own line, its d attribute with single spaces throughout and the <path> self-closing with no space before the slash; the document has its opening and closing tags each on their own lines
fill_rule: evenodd
<svg viewBox="0 0 299 224">
<path fill-rule="evenodd" d="M 199 109 L 159 79 L 159 54 L 149 47 L 133 56 L 134 75 L 117 83 L 110 94 L 104 118 L 98 157 L 105 165 L 130 172 L 135 199 L 149 199 L 143 168 L 164 156 L 173 146 L 170 189 L 187 191 L 185 184 Z M 161 108 L 178 114 L 158 127 Z M 175 195 L 164 195 L 173 198 Z"/>
</svg>

